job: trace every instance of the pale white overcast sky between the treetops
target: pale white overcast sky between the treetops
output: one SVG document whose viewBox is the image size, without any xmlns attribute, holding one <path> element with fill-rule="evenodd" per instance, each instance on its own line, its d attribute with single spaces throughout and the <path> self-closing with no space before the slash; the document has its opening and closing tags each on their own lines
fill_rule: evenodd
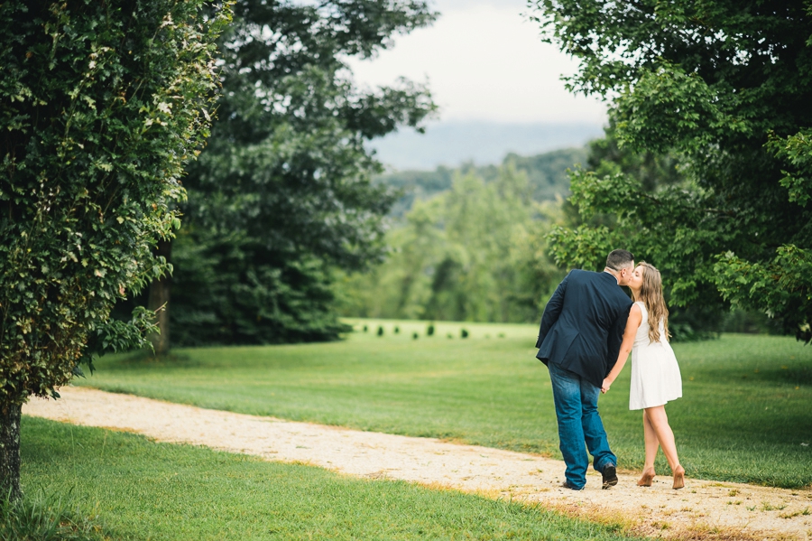
<svg viewBox="0 0 812 541">
<path fill-rule="evenodd" d="M 523 0 L 438 0 L 438 21 L 396 38 L 373 61 L 352 61 L 355 78 L 376 86 L 399 76 L 429 80 L 442 120 L 603 124 L 605 106 L 573 96 L 559 79 L 577 62 L 540 42 Z"/>
</svg>

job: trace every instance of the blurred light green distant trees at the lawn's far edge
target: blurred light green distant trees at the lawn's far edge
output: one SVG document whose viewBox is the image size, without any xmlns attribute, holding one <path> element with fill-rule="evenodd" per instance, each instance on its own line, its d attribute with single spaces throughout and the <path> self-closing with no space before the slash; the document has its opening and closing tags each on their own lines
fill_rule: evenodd
<svg viewBox="0 0 812 541">
<path fill-rule="evenodd" d="M 559 204 L 531 197 L 525 173 L 504 165 L 486 182 L 458 172 L 448 191 L 416 201 L 387 236 L 373 272 L 337 282 L 342 310 L 363 317 L 478 322 L 538 318 L 563 273 L 546 255 Z"/>
</svg>

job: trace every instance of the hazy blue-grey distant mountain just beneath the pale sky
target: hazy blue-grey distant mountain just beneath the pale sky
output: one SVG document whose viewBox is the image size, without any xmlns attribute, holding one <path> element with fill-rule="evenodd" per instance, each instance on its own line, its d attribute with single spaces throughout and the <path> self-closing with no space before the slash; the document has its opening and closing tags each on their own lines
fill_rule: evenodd
<svg viewBox="0 0 812 541">
<path fill-rule="evenodd" d="M 506 154 L 541 154 L 582 147 L 602 137 L 597 124 L 500 124 L 443 122 L 425 134 L 402 130 L 374 141 L 378 158 L 394 170 L 433 170 L 439 165 L 499 163 Z"/>
</svg>

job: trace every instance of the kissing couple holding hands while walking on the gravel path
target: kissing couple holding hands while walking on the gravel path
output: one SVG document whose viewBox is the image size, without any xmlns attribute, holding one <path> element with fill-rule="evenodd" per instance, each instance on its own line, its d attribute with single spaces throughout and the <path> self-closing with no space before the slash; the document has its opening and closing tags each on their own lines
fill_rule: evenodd
<svg viewBox="0 0 812 541">
<path fill-rule="evenodd" d="M 621 286 L 632 291 L 633 302 Z M 617 457 L 609 448 L 597 400 L 609 391 L 630 352 L 629 409 L 643 411 L 646 448 L 637 484 L 651 487 L 661 447 L 673 488 L 685 486 L 685 469 L 665 412 L 667 402 L 682 396 L 682 378 L 669 344 L 660 271 L 645 262 L 635 266 L 628 250 L 613 250 L 603 272 L 571 271 L 544 308 L 536 348 L 552 383 L 559 448 L 567 464 L 565 489 L 586 487 L 587 449 L 595 471 L 603 475 L 602 488 L 617 484 Z"/>
</svg>

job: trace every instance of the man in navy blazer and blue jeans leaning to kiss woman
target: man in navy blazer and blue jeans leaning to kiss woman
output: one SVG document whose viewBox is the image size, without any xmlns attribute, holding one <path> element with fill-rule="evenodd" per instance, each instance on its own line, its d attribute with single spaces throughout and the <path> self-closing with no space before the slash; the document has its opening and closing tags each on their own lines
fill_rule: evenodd
<svg viewBox="0 0 812 541">
<path fill-rule="evenodd" d="M 601 384 L 614 367 L 632 301 L 629 283 L 634 257 L 614 250 L 604 272 L 574 270 L 558 284 L 541 316 L 536 355 L 549 368 L 558 418 L 558 440 L 567 463 L 564 488 L 583 490 L 592 454 L 603 488 L 617 484 L 617 457 L 609 449 L 597 411 Z"/>
</svg>

